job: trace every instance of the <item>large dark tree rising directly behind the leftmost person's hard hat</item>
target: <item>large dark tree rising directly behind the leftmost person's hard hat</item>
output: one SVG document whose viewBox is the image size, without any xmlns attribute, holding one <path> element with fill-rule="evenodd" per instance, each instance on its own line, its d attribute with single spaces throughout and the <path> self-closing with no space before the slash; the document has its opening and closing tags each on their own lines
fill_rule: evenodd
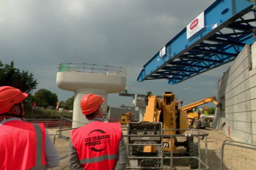
<svg viewBox="0 0 256 170">
<path fill-rule="evenodd" d="M 22 92 L 31 94 L 36 89 L 37 84 L 33 74 L 28 73 L 28 71 L 20 72 L 19 69 L 14 67 L 14 61 L 10 65 L 3 65 L 0 61 L 0 86 L 12 86 L 20 89 Z"/>
</svg>

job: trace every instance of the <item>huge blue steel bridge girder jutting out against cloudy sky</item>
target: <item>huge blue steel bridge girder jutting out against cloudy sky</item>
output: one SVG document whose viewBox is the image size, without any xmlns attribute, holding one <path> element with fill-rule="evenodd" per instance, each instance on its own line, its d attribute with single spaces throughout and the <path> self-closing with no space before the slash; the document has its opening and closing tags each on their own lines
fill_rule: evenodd
<svg viewBox="0 0 256 170">
<path fill-rule="evenodd" d="M 205 26 L 186 39 L 186 28 L 144 66 L 138 82 L 167 79 L 177 84 L 236 59 L 244 45 L 253 43 L 256 13 L 250 0 L 216 0 L 204 11 Z M 215 26 L 215 27 L 212 27 Z"/>
</svg>

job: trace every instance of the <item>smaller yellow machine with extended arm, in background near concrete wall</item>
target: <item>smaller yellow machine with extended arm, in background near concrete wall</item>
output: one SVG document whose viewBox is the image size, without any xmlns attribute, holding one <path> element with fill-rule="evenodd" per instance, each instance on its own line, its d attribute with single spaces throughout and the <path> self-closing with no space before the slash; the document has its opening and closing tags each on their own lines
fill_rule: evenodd
<svg viewBox="0 0 256 170">
<path fill-rule="evenodd" d="M 204 105 L 209 102 L 213 102 L 216 106 L 218 106 L 217 99 L 215 96 L 213 96 L 198 100 L 197 102 L 193 102 L 189 105 L 185 105 L 179 108 L 182 111 L 186 111 L 189 127 L 195 129 L 205 129 L 206 127 L 209 127 L 209 121 L 207 121 L 205 115 L 201 114 L 201 112 L 197 108 L 198 106 Z"/>
</svg>

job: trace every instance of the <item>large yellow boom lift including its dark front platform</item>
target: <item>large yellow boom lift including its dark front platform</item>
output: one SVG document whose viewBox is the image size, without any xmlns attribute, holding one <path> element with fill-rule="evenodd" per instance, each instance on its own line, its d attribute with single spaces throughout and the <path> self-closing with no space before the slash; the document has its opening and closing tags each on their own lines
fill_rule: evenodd
<svg viewBox="0 0 256 170">
<path fill-rule="evenodd" d="M 161 125 L 158 125 L 161 124 Z M 134 147 L 133 156 L 154 156 L 157 154 L 156 147 L 152 143 L 160 141 L 158 136 L 150 137 L 143 136 L 149 134 L 163 134 L 163 135 L 180 135 L 189 128 L 188 118 L 186 111 L 179 109 L 178 101 L 175 99 L 175 95 L 172 92 L 164 92 L 163 98 L 158 98 L 155 95 L 149 95 L 146 105 L 146 110 L 143 118 L 143 122 L 134 124 L 129 123 L 128 133 L 131 135 L 137 135 L 137 137 L 131 137 L 129 143 L 151 143 L 151 145 L 145 145 L 143 150 L 138 150 L 139 147 Z M 181 129 L 181 130 L 179 130 Z M 163 152 L 165 156 L 190 156 L 198 157 L 198 145 L 193 142 L 193 136 L 187 136 L 185 141 L 178 142 L 174 136 L 163 137 Z M 177 147 L 186 147 L 185 153 L 180 153 Z M 145 167 L 150 167 L 153 161 L 151 159 L 143 159 L 141 164 L 145 164 Z M 155 164 L 155 163 L 153 163 Z M 189 164 L 192 169 L 198 169 L 198 160 L 195 158 L 189 159 Z M 144 165 L 143 165 L 144 166 Z"/>
</svg>

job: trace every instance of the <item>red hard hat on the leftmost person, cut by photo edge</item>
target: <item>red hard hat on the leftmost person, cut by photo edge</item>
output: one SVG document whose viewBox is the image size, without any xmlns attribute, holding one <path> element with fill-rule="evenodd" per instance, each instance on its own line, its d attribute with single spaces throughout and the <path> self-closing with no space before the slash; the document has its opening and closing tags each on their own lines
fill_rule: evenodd
<svg viewBox="0 0 256 170">
<path fill-rule="evenodd" d="M 0 114 L 10 111 L 13 105 L 20 103 L 27 96 L 29 94 L 11 86 L 0 87 Z"/>
</svg>

